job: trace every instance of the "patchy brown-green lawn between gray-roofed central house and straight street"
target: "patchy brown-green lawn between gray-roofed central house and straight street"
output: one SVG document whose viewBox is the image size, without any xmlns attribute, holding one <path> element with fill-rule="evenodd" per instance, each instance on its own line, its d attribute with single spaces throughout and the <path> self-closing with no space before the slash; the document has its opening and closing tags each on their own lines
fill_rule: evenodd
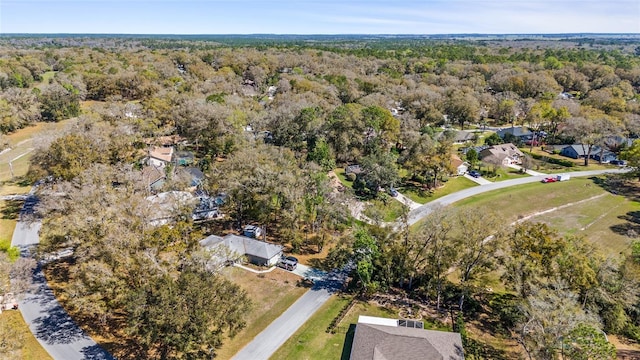
<svg viewBox="0 0 640 360">
<path fill-rule="evenodd" d="M 280 316 L 307 289 L 296 286 L 298 276 L 276 269 L 266 274 L 254 274 L 236 267 L 225 269 L 225 276 L 247 291 L 253 302 L 247 314 L 247 326 L 233 339 L 227 339 L 216 351 L 216 358 L 230 359 L 240 349 Z"/>
</svg>

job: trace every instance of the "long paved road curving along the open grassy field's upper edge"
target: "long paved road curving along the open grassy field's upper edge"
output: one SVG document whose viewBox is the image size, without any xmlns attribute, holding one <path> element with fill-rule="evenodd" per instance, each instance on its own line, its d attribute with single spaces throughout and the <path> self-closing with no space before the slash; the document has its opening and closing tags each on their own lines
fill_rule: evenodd
<svg viewBox="0 0 640 360">
<path fill-rule="evenodd" d="M 610 169 L 610 170 L 590 170 L 590 171 L 575 171 L 569 172 L 566 174 L 571 175 L 571 177 L 584 177 L 584 176 L 595 176 L 601 175 L 605 173 L 623 173 L 629 171 L 628 169 Z M 560 175 L 560 174 L 554 174 Z M 454 202 L 460 201 L 462 199 L 468 198 L 470 196 L 482 194 L 487 191 L 504 189 L 510 186 L 528 184 L 532 182 L 537 182 L 542 180 L 544 176 L 531 176 L 526 178 L 518 178 L 512 180 L 498 181 L 494 183 L 489 183 L 486 185 L 475 186 L 469 189 L 464 189 L 453 194 L 449 194 L 447 196 L 443 196 L 439 199 L 428 202 L 419 208 L 412 210 L 409 213 L 409 225 L 413 225 L 416 222 L 422 220 L 424 217 L 429 215 L 434 209 L 440 206 L 446 206 L 449 204 L 453 204 Z M 571 180 L 569 180 L 571 181 Z M 397 224 L 396 224 L 397 226 Z"/>
</svg>

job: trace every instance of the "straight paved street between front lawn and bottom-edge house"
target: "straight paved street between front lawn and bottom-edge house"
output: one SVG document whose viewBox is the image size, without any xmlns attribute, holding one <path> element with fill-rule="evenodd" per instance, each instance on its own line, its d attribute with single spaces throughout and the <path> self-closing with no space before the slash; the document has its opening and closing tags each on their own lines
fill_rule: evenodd
<svg viewBox="0 0 640 360">
<path fill-rule="evenodd" d="M 311 290 L 302 295 L 280 317 L 242 348 L 233 360 L 267 360 L 289 339 L 318 309 L 338 291 L 345 272 L 330 273 L 316 281 Z"/>
</svg>

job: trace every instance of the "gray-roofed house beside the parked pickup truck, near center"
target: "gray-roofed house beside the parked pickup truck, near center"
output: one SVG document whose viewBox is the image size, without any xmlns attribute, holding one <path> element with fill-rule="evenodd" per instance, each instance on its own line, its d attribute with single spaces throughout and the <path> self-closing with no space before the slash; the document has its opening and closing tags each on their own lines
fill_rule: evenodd
<svg viewBox="0 0 640 360">
<path fill-rule="evenodd" d="M 248 238 L 246 236 L 229 234 L 225 237 L 210 235 L 200 240 L 204 248 L 215 250 L 224 262 L 237 262 L 246 257 L 247 260 L 259 266 L 273 266 L 282 256 L 282 246 Z"/>
</svg>

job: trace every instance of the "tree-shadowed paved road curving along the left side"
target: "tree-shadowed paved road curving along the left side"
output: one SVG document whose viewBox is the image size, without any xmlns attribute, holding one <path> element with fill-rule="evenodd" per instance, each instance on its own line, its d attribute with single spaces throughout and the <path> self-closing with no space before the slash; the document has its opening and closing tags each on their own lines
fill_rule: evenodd
<svg viewBox="0 0 640 360">
<path fill-rule="evenodd" d="M 11 239 L 26 255 L 29 247 L 38 244 L 40 223 L 18 222 Z M 42 347 L 56 360 L 110 360 L 113 359 L 96 344 L 56 300 L 40 267 L 33 275 L 34 288 L 19 301 L 20 312 Z"/>
</svg>

